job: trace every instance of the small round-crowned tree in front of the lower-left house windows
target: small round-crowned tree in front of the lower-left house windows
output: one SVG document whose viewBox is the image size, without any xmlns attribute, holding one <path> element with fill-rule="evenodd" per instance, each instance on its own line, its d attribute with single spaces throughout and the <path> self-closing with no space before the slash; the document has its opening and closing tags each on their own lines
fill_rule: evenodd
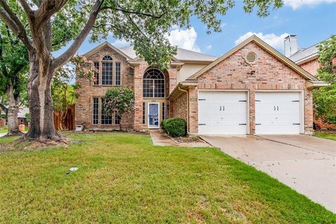
<svg viewBox="0 0 336 224">
<path fill-rule="evenodd" d="M 120 118 L 120 130 L 123 130 L 123 115 L 134 110 L 134 92 L 128 87 L 118 86 L 107 90 L 103 99 L 104 113 L 117 113 Z"/>
</svg>

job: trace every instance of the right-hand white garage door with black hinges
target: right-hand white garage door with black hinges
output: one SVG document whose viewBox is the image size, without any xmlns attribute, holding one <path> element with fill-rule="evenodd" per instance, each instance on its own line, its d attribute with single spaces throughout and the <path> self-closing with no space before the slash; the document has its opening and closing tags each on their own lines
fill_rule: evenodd
<svg viewBox="0 0 336 224">
<path fill-rule="evenodd" d="M 256 92 L 255 134 L 300 134 L 300 93 Z"/>
</svg>

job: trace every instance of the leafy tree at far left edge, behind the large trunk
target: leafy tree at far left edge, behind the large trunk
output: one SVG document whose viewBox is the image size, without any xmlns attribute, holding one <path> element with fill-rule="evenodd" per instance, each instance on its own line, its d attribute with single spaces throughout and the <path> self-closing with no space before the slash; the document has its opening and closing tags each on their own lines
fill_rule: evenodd
<svg viewBox="0 0 336 224">
<path fill-rule="evenodd" d="M 6 103 L 0 102 L 0 108 L 8 119 L 8 136 L 22 134 L 18 112 L 27 102 L 28 64 L 25 45 L 0 21 L 0 95 L 6 98 Z"/>
</svg>

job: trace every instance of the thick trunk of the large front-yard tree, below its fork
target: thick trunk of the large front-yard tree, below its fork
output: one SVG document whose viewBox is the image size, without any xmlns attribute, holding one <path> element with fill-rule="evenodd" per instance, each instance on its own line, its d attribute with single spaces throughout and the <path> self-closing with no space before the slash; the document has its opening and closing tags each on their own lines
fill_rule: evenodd
<svg viewBox="0 0 336 224">
<path fill-rule="evenodd" d="M 23 139 L 60 141 L 53 120 L 53 106 L 50 84 L 52 72 L 50 61 L 40 59 L 35 52 L 30 52 L 30 70 L 28 79 L 28 102 L 30 112 L 30 127 Z"/>
</svg>

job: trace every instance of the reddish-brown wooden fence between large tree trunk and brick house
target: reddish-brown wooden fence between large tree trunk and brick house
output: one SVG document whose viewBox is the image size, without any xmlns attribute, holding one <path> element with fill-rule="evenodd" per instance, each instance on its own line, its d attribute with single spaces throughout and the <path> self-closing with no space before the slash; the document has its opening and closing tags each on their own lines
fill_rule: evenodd
<svg viewBox="0 0 336 224">
<path fill-rule="evenodd" d="M 75 104 L 69 106 L 66 111 L 64 121 L 60 116 L 64 116 L 64 113 L 57 113 L 54 111 L 54 125 L 57 131 L 59 130 L 74 130 L 75 129 Z"/>
</svg>

